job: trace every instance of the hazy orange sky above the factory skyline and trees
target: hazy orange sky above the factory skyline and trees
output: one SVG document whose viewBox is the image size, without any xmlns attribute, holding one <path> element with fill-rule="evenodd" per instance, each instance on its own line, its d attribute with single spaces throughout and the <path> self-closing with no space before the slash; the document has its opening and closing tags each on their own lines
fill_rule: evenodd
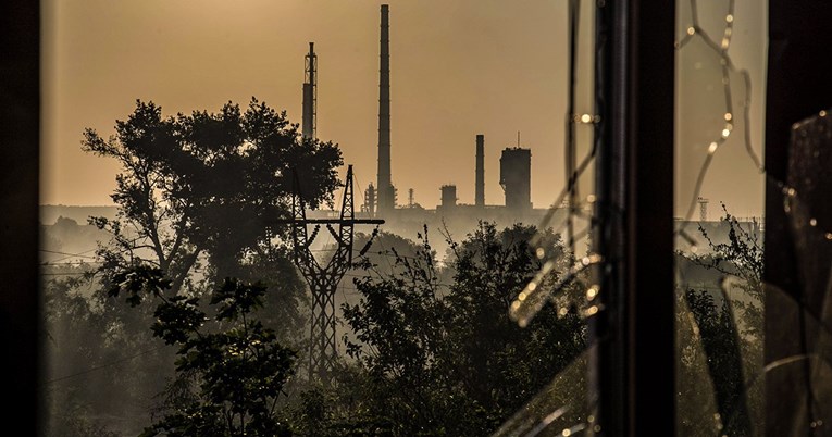
<svg viewBox="0 0 832 437">
<path fill-rule="evenodd" d="M 567 2 L 386 3 L 399 203 L 413 188 L 417 202 L 434 208 L 443 184 L 456 184 L 460 202 L 473 203 L 474 140 L 484 134 L 486 203 L 502 204 L 499 153 L 520 130 L 532 150 L 532 201 L 548 205 L 563 179 Z M 340 146 L 363 190 L 376 177 L 381 4 L 46 0 L 41 203 L 111 203 L 117 167 L 82 152 L 82 132 L 110 135 L 136 99 L 175 114 L 257 97 L 299 123 L 309 41 L 319 57 L 318 137 Z M 759 28 L 750 34 L 756 40 Z M 716 200 L 713 191 L 705 195 Z"/>
</svg>

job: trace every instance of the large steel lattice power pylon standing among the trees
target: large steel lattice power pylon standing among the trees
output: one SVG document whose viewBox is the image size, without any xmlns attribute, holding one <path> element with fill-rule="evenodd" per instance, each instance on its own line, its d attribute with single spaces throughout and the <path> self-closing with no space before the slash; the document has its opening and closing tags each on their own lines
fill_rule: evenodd
<svg viewBox="0 0 832 437">
<path fill-rule="evenodd" d="M 306 204 L 300 195 L 297 175 L 293 196 L 291 235 L 295 244 L 295 262 L 309 284 L 312 292 L 312 326 L 309 350 L 309 378 L 319 378 L 328 383 L 335 367 L 335 291 L 338 283 L 352 264 L 352 228 L 360 224 L 384 224 L 380 218 L 356 218 L 352 196 L 352 165 L 347 167 L 347 180 L 344 184 L 344 200 L 340 218 L 307 218 Z M 308 225 L 314 225 L 311 234 Z M 321 265 L 309 246 L 314 241 L 321 226 L 333 236 L 336 242 L 335 253 L 326 265 Z M 337 230 L 335 226 L 337 225 Z M 374 230 L 373 235 L 377 232 Z M 361 254 L 370 248 L 370 241 L 361 249 Z"/>
</svg>

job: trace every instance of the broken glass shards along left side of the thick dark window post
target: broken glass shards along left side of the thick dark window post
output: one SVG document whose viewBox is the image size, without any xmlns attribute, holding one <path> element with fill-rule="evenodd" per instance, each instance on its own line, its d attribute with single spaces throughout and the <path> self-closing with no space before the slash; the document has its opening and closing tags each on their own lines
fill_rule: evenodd
<svg viewBox="0 0 832 437">
<path fill-rule="evenodd" d="M 564 117 L 566 180 L 538 229 L 551 228 L 564 241 L 566 258 L 549 253 L 545 233 L 531 240 L 543 262 L 542 269 L 511 303 L 510 316 L 519 326 L 545 321 L 538 313 L 552 307 L 558 316 L 578 315 L 585 321 L 603 309 L 596 298 L 603 290 L 594 272 L 605 260 L 591 249 L 589 233 L 595 209 L 595 127 L 605 123 L 595 114 L 595 13 L 589 1 L 568 2 L 569 59 L 568 102 Z M 566 260 L 566 262 L 564 262 Z M 592 348 L 592 345 L 589 345 Z M 598 424 L 593 416 L 595 397 L 586 383 L 585 351 L 558 372 L 551 382 L 505 422 L 494 436 L 570 436 L 592 435 Z"/>
</svg>

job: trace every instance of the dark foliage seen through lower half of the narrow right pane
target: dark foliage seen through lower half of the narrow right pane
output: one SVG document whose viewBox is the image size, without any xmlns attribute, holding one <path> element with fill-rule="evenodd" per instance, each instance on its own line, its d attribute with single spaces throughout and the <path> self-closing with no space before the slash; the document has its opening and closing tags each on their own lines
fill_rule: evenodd
<svg viewBox="0 0 832 437">
<path fill-rule="evenodd" d="M 686 270 L 695 266 L 710 273 L 698 275 L 706 280 L 682 284 L 676 303 L 682 309 L 678 338 L 680 396 L 684 397 L 678 424 L 691 435 L 712 434 L 713 428 L 701 426 L 700 419 L 712 415 L 701 405 L 719 413 L 720 434 L 752 435 L 762 423 L 763 252 L 756 224 L 744 226 L 724 205 L 723 211 L 724 241 L 699 226 L 706 252 L 679 253 L 678 262 Z"/>
</svg>

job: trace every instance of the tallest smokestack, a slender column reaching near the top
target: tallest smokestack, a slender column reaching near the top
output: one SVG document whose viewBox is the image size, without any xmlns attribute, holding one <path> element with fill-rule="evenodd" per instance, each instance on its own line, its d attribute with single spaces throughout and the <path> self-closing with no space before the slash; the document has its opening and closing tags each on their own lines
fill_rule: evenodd
<svg viewBox="0 0 832 437">
<path fill-rule="evenodd" d="M 389 7 L 382 4 L 381 52 L 378 70 L 378 211 L 395 207 L 390 182 L 390 51 Z"/>
</svg>

